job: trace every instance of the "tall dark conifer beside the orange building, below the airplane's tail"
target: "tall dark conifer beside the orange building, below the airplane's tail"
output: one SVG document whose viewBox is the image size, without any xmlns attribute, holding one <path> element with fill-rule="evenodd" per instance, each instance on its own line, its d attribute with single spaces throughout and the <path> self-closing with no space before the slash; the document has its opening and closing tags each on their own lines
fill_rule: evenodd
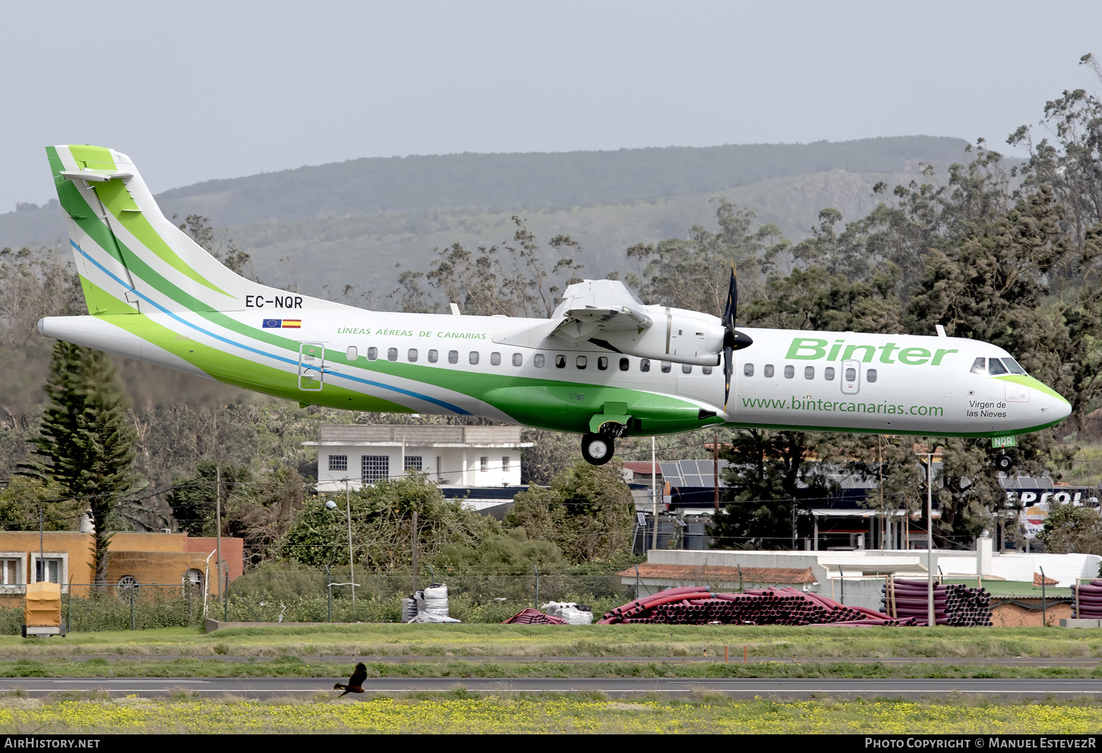
<svg viewBox="0 0 1102 753">
<path fill-rule="evenodd" d="M 61 485 L 91 511 L 96 582 L 107 574 L 107 533 L 112 510 L 134 485 L 134 430 L 115 369 L 98 350 L 58 341 L 45 384 L 50 404 L 39 436 L 31 439 L 37 460 L 21 472 Z"/>
</svg>

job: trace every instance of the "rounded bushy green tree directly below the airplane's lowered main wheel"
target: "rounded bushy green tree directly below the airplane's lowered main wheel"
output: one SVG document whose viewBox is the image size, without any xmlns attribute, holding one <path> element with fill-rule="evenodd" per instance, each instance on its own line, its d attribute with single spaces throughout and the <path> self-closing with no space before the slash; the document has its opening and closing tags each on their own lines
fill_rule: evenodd
<svg viewBox="0 0 1102 753">
<path fill-rule="evenodd" d="M 616 559 L 631 549 L 634 511 L 618 468 L 577 461 L 549 488 L 517 494 L 505 525 L 522 528 L 530 541 L 551 542 L 572 563 Z"/>
</svg>

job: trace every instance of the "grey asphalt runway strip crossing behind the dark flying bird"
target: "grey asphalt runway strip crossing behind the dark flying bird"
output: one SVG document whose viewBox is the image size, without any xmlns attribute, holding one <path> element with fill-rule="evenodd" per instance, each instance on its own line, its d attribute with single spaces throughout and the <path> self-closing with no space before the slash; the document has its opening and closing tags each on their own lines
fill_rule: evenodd
<svg viewBox="0 0 1102 753">
<path fill-rule="evenodd" d="M 0 691 L 22 689 L 31 696 L 107 692 L 111 696 L 164 697 L 176 692 L 198 697 L 238 697 L 272 699 L 279 697 L 336 696 L 327 678 L 256 677 L 247 679 L 195 678 L 3 678 Z M 484 679 L 400 677 L 371 678 L 364 683 L 367 694 L 401 694 L 410 691 L 447 691 L 465 688 L 478 692 L 580 692 L 599 691 L 609 697 L 631 697 L 640 694 L 684 695 L 695 691 L 722 692 L 738 698 L 791 698 L 862 696 L 889 698 L 938 697 L 954 694 L 1004 698 L 1077 698 L 1102 697 L 1100 679 L 681 679 L 681 678 L 530 678 Z M 368 698 L 370 696 L 356 696 Z M 346 696 L 346 699 L 354 698 Z"/>
</svg>

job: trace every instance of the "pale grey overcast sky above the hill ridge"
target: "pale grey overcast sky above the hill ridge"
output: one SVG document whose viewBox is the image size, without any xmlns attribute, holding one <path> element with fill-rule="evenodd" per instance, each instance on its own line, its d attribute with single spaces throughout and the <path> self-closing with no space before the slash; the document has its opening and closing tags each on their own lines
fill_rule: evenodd
<svg viewBox="0 0 1102 753">
<path fill-rule="evenodd" d="M 0 211 L 42 146 L 154 192 L 360 156 L 987 138 L 1100 85 L 1091 2 L 21 2 L 0 9 Z"/>
</svg>

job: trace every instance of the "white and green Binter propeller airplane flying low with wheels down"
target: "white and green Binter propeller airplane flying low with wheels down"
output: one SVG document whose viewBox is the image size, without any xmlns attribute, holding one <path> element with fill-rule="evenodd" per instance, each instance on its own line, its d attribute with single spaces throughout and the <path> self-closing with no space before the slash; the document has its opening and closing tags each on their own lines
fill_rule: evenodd
<svg viewBox="0 0 1102 753">
<path fill-rule="evenodd" d="M 550 319 L 372 312 L 226 269 L 161 214 L 126 154 L 48 146 L 88 316 L 47 337 L 349 411 L 484 416 L 624 436 L 715 425 L 1013 437 L 1071 412 L 1005 350 L 946 337 L 736 329 L 646 305 L 623 283 L 570 285 Z"/>
</svg>

